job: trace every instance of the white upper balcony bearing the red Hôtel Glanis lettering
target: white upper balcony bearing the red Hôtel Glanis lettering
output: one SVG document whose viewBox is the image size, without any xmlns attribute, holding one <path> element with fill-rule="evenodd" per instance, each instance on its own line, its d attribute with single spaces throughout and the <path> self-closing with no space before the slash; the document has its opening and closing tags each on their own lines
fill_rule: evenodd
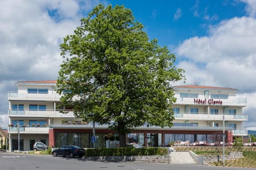
<svg viewBox="0 0 256 170">
<path fill-rule="evenodd" d="M 195 102 L 195 100 L 200 102 Z M 204 99 L 204 98 L 177 98 L 175 104 L 200 105 L 200 106 L 246 106 L 246 98 L 229 98 L 229 99 Z M 202 102 L 201 102 L 202 101 Z"/>
</svg>

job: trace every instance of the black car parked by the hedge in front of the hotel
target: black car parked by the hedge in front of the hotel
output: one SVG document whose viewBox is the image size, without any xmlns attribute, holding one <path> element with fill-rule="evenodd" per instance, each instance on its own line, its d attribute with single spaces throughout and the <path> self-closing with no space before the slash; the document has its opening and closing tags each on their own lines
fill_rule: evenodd
<svg viewBox="0 0 256 170">
<path fill-rule="evenodd" d="M 69 156 L 70 158 L 74 156 L 82 157 L 84 154 L 85 149 L 74 145 L 65 145 L 52 151 L 53 156 Z"/>
</svg>

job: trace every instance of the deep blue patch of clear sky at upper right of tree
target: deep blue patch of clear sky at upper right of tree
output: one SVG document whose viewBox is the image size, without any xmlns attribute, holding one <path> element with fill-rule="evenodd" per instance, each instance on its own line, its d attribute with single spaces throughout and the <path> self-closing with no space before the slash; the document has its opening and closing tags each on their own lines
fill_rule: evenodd
<svg viewBox="0 0 256 170">
<path fill-rule="evenodd" d="M 130 8 L 145 26 L 149 38 L 171 50 L 187 38 L 209 35 L 209 28 L 223 20 L 246 15 L 240 1 L 110 1 Z"/>
</svg>

